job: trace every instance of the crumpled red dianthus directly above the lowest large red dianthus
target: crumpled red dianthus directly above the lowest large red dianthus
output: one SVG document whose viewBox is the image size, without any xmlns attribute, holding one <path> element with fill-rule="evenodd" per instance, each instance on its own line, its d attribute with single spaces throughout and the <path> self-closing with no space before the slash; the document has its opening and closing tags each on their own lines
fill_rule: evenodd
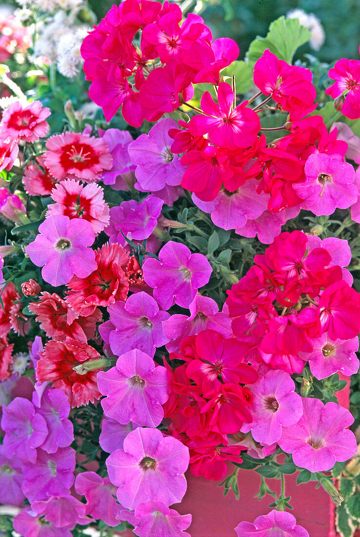
<svg viewBox="0 0 360 537">
<path fill-rule="evenodd" d="M 94 337 L 96 323 L 102 318 L 95 308 L 91 316 L 80 317 L 59 295 L 46 291 L 41 293 L 39 302 L 31 302 L 28 308 L 46 335 L 59 341 L 70 336 L 86 343 Z"/>
</svg>

